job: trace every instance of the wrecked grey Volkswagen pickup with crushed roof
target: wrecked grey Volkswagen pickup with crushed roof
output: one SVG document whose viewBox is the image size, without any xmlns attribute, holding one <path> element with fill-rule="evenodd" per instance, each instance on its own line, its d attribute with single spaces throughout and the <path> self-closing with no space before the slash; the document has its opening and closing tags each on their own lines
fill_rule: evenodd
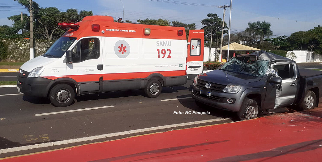
<svg viewBox="0 0 322 162">
<path fill-rule="evenodd" d="M 318 105 L 322 72 L 298 69 L 288 58 L 265 51 L 239 55 L 217 70 L 194 78 L 192 97 L 198 106 L 238 112 L 240 120 L 301 110 Z"/>
</svg>

